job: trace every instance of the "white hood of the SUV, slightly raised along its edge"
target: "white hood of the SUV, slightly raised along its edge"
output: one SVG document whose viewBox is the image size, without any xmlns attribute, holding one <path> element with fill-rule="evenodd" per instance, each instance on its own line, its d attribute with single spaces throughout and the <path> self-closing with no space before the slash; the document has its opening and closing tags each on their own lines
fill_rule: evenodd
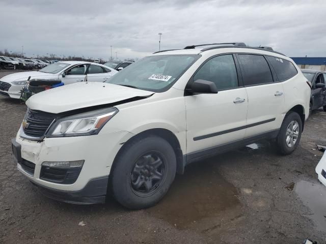
<svg viewBox="0 0 326 244">
<path fill-rule="evenodd" d="M 101 82 L 80 82 L 45 90 L 32 96 L 26 105 L 33 110 L 62 113 L 80 108 L 112 104 L 154 94 L 121 85 Z"/>
</svg>

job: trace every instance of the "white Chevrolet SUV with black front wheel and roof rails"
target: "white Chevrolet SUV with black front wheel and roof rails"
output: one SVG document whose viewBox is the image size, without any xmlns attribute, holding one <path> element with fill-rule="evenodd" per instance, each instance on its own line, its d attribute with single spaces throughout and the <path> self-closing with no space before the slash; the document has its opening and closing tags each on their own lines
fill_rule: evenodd
<svg viewBox="0 0 326 244">
<path fill-rule="evenodd" d="M 18 169 L 48 197 L 131 209 L 157 203 L 175 174 L 259 139 L 297 147 L 310 86 L 289 57 L 243 43 L 160 51 L 106 83 L 31 97 L 12 148 Z"/>
</svg>

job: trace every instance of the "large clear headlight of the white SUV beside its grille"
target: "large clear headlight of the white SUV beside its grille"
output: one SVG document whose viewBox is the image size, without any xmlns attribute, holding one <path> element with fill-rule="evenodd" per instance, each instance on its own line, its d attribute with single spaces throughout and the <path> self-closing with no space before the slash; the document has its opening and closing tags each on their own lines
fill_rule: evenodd
<svg viewBox="0 0 326 244">
<path fill-rule="evenodd" d="M 61 118 L 50 128 L 47 137 L 96 135 L 118 111 L 111 107 Z"/>
</svg>

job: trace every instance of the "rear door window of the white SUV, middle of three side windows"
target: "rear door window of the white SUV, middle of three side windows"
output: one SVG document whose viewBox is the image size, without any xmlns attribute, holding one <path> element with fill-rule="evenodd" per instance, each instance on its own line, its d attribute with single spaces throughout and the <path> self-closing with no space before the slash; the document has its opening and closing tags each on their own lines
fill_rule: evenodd
<svg viewBox="0 0 326 244">
<path fill-rule="evenodd" d="M 243 67 L 243 84 L 258 85 L 273 82 L 270 68 L 264 56 L 254 54 L 238 54 Z"/>
</svg>

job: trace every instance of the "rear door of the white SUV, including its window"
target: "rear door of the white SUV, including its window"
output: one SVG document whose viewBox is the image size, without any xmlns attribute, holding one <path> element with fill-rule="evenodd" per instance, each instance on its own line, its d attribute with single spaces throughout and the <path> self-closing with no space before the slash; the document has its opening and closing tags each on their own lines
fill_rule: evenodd
<svg viewBox="0 0 326 244">
<path fill-rule="evenodd" d="M 247 129 L 251 137 L 278 129 L 283 121 L 284 90 L 266 58 L 259 54 L 237 54 L 243 84 L 248 94 Z"/>
</svg>

